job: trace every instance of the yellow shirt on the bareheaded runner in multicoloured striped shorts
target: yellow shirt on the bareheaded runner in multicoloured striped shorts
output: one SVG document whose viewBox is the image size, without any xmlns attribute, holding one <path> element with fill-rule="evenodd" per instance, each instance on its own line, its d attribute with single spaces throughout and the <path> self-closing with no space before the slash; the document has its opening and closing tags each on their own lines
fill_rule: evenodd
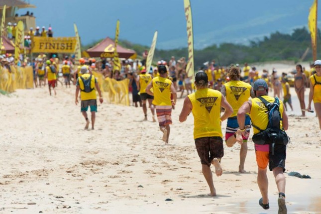
<svg viewBox="0 0 321 214">
<path fill-rule="evenodd" d="M 238 109 L 250 98 L 251 85 L 243 81 L 229 81 L 224 84 L 226 89 L 226 100 L 233 107 L 230 117 L 236 116 Z"/>
</svg>

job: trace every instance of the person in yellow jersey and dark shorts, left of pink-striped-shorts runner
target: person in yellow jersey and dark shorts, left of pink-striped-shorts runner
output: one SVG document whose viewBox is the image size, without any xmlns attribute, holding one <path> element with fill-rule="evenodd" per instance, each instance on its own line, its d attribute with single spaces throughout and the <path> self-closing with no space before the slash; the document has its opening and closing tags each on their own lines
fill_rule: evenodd
<svg viewBox="0 0 321 214">
<path fill-rule="evenodd" d="M 152 112 L 153 122 L 156 122 L 155 119 L 155 107 L 152 104 L 154 97 L 146 93 L 146 87 L 149 83 L 152 82 L 152 76 L 150 74 L 146 74 L 146 69 L 140 71 L 140 74 L 136 78 L 137 90 L 140 93 L 140 99 L 142 100 L 143 112 L 144 112 L 144 120 L 147 120 L 147 105 L 146 101 L 148 101 L 148 105 L 150 107 L 150 111 Z"/>
</svg>

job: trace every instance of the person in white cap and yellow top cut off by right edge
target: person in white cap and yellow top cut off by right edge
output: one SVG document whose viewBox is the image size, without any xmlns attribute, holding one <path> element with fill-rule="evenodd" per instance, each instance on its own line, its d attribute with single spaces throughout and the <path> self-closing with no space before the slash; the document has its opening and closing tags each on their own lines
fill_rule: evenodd
<svg viewBox="0 0 321 214">
<path fill-rule="evenodd" d="M 310 77 L 308 111 L 311 111 L 311 103 L 313 101 L 317 116 L 319 118 L 319 126 L 321 129 L 321 60 L 317 60 L 314 65 L 316 73 Z"/>
</svg>

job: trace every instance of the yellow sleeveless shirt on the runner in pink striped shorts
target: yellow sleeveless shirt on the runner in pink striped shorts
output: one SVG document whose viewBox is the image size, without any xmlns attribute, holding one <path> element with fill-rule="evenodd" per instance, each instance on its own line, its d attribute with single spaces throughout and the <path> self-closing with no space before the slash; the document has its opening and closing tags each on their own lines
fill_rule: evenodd
<svg viewBox="0 0 321 214">
<path fill-rule="evenodd" d="M 172 106 L 171 102 L 171 85 L 172 81 L 163 77 L 153 78 L 153 91 L 155 106 Z"/>
</svg>

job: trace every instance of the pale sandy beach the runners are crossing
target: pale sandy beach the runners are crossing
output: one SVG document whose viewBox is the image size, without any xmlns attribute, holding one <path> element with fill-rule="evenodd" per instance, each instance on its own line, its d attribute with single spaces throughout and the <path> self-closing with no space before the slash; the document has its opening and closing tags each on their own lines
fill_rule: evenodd
<svg viewBox="0 0 321 214">
<path fill-rule="evenodd" d="M 280 73 L 280 72 L 279 72 Z M 280 73 L 281 74 L 281 73 Z M 277 188 L 268 173 L 270 210 L 258 205 L 254 145 L 248 142 L 246 173 L 238 173 L 239 149 L 224 145 L 223 175 L 214 176 L 217 197 L 208 185 L 193 140 L 193 116 L 178 121 L 183 99 L 172 112 L 169 145 L 158 123 L 142 121 L 141 108 L 98 107 L 95 130 L 85 131 L 75 87 L 59 85 L 0 95 L 1 214 L 255 214 L 277 213 Z M 321 131 L 315 113 L 300 117 L 291 88 L 291 143 L 286 173 L 288 213 L 321 213 Z M 309 89 L 306 91 L 308 100 Z M 306 101 L 307 105 L 307 101 Z M 222 123 L 225 132 L 226 121 Z M 252 131 L 250 138 L 252 136 Z M 214 168 L 213 168 L 214 170 Z M 170 199 L 172 201 L 166 201 Z"/>
</svg>

